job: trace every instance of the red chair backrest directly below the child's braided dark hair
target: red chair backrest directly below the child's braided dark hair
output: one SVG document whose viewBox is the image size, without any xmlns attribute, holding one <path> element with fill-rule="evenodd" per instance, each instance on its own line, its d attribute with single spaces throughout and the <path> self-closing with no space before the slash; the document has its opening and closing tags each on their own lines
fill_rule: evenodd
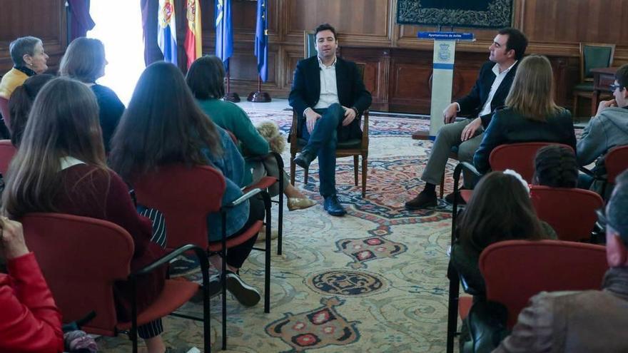
<svg viewBox="0 0 628 353">
<path fill-rule="evenodd" d="M 576 188 L 532 185 L 530 198 L 539 218 L 554 228 L 559 240 L 589 239 L 597 221 L 595 210 L 604 207 L 600 195 Z"/>
</svg>

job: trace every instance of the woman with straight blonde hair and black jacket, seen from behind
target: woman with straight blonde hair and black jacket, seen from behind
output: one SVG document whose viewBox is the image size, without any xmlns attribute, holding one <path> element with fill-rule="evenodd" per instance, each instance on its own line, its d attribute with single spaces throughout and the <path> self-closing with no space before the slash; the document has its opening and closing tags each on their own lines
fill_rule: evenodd
<svg viewBox="0 0 628 353">
<path fill-rule="evenodd" d="M 545 56 L 526 56 L 517 68 L 506 98 L 506 107 L 495 111 L 473 156 L 480 173 L 490 170 L 489 156 L 498 145 L 522 142 L 554 142 L 575 150 L 572 116 L 554 103 L 554 75 Z"/>
</svg>

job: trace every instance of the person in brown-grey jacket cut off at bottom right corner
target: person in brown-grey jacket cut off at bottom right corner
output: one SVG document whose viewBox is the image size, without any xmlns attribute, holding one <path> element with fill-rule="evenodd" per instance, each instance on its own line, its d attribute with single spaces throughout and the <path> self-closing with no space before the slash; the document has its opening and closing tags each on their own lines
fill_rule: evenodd
<svg viewBox="0 0 628 353">
<path fill-rule="evenodd" d="M 493 353 L 628 352 L 628 172 L 619 175 L 605 214 L 598 215 L 606 225 L 610 267 L 602 290 L 535 295 Z"/>
</svg>

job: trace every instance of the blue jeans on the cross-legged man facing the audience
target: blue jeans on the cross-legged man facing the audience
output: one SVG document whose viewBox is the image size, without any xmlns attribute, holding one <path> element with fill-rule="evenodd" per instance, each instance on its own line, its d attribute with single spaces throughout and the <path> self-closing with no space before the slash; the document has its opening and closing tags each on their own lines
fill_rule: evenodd
<svg viewBox="0 0 628 353">
<path fill-rule="evenodd" d="M 320 178 L 320 195 L 328 198 L 336 193 L 336 146 L 338 145 L 338 129 L 342 126 L 345 110 L 338 103 L 327 109 L 315 109 L 320 114 L 314 130 L 310 134 L 307 121 L 301 127 L 302 137 L 308 140 L 303 148 L 308 153 L 318 156 L 318 176 Z"/>
</svg>

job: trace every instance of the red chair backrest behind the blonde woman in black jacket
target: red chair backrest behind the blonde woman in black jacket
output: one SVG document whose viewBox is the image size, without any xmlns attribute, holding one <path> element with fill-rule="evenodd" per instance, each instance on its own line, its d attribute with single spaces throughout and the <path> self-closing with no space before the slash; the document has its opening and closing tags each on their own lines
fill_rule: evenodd
<svg viewBox="0 0 628 353">
<path fill-rule="evenodd" d="M 489 163 L 492 170 L 512 169 L 532 183 L 535 174 L 535 157 L 539 148 L 547 145 L 560 145 L 571 148 L 569 145 L 552 142 L 524 142 L 498 145 L 491 151 Z M 571 148 L 573 150 L 573 148 Z"/>
</svg>

